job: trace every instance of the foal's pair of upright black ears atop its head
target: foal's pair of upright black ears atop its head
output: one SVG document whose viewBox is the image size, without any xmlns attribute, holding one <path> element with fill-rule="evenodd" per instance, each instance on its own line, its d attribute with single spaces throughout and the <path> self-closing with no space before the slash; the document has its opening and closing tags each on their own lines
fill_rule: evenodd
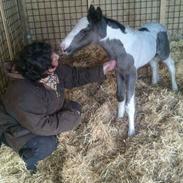
<svg viewBox="0 0 183 183">
<path fill-rule="evenodd" d="M 102 10 L 99 7 L 95 10 L 95 7 L 93 5 L 90 5 L 87 18 L 88 21 L 92 24 L 100 22 L 100 20 L 102 19 Z"/>
</svg>

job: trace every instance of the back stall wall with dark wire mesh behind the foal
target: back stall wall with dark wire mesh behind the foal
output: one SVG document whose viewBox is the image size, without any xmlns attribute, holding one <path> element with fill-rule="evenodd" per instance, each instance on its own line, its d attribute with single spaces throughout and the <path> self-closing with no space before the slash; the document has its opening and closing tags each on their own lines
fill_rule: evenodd
<svg viewBox="0 0 183 183">
<path fill-rule="evenodd" d="M 86 16 L 90 4 L 100 6 L 108 17 L 134 28 L 145 22 L 162 22 L 170 36 L 183 34 L 181 0 L 25 0 L 29 37 L 58 46 L 77 20 Z"/>
</svg>

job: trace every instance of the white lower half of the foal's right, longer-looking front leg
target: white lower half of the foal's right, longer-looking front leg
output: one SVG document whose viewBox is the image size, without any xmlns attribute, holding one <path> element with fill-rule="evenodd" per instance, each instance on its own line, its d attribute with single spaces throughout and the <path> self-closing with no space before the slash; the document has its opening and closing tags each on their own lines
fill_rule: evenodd
<svg viewBox="0 0 183 183">
<path fill-rule="evenodd" d="M 132 136 L 135 134 L 135 97 L 134 95 L 131 97 L 129 103 L 126 105 L 126 112 L 128 114 L 129 119 L 129 128 L 128 128 L 128 136 Z"/>
</svg>

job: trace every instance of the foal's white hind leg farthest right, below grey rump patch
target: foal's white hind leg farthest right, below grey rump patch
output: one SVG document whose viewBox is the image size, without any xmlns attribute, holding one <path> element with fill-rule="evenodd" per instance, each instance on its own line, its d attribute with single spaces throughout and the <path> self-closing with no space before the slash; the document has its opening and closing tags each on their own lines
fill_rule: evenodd
<svg viewBox="0 0 183 183">
<path fill-rule="evenodd" d="M 172 83 L 172 90 L 176 91 L 178 90 L 177 83 L 176 83 L 176 77 L 175 77 L 175 62 L 169 55 L 169 57 L 165 60 L 163 60 L 163 63 L 168 67 L 168 71 L 171 78 Z"/>
</svg>

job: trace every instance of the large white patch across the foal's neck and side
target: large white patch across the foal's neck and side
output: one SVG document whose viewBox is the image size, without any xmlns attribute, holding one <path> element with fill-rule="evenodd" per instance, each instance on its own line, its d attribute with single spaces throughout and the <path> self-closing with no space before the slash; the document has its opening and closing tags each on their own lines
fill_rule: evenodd
<svg viewBox="0 0 183 183">
<path fill-rule="evenodd" d="M 107 35 L 100 41 L 120 40 L 125 51 L 134 58 L 134 65 L 138 69 L 147 64 L 156 54 L 156 39 L 150 32 L 143 32 L 125 29 L 123 33 L 121 29 L 114 29 L 107 26 Z"/>
</svg>

